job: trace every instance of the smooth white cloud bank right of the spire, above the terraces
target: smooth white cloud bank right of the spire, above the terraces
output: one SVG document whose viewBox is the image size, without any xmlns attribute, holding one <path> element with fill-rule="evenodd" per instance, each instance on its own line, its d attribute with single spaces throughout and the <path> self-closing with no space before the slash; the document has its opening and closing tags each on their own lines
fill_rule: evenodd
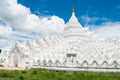
<svg viewBox="0 0 120 80">
<path fill-rule="evenodd" d="M 89 25 L 101 38 L 120 39 L 120 22 L 106 22 L 101 25 Z"/>
</svg>

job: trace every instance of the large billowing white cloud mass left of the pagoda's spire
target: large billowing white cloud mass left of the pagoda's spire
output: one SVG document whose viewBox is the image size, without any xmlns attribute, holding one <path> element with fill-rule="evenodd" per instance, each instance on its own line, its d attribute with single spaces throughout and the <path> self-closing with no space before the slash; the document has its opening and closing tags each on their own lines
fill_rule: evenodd
<svg viewBox="0 0 120 80">
<path fill-rule="evenodd" d="M 35 37 L 34 34 L 61 32 L 64 20 L 57 16 L 39 17 L 30 9 L 17 3 L 17 0 L 0 0 L 0 46 L 11 40 Z M 34 34 L 33 34 L 34 33 Z M 5 44 L 6 45 L 6 44 Z"/>
</svg>

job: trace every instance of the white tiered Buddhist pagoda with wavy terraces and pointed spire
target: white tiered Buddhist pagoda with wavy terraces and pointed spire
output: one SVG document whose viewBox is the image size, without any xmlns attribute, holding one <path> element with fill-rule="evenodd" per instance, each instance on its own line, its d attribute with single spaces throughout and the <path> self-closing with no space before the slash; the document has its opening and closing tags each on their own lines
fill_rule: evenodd
<svg viewBox="0 0 120 80">
<path fill-rule="evenodd" d="M 120 72 L 120 41 L 96 38 L 83 28 L 74 9 L 64 32 L 16 43 L 0 54 L 7 67 Z"/>
</svg>

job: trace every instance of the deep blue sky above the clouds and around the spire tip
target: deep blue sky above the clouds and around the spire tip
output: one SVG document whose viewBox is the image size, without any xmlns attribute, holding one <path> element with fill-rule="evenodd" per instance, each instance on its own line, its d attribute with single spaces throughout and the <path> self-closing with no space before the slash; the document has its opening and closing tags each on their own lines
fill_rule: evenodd
<svg viewBox="0 0 120 80">
<path fill-rule="evenodd" d="M 76 16 L 84 25 L 81 16 L 105 18 L 90 24 L 101 24 L 103 21 L 120 21 L 120 0 L 18 0 L 19 3 L 31 9 L 36 15 L 57 15 L 65 20 L 71 16 L 74 5 Z"/>
</svg>

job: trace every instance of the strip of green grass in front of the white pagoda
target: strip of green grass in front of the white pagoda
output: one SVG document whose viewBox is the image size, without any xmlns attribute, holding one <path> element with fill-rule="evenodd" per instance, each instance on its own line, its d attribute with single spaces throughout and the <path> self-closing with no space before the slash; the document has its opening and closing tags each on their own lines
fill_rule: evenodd
<svg viewBox="0 0 120 80">
<path fill-rule="evenodd" d="M 44 69 L 0 70 L 0 80 L 120 80 L 120 73 L 66 72 Z"/>
</svg>

